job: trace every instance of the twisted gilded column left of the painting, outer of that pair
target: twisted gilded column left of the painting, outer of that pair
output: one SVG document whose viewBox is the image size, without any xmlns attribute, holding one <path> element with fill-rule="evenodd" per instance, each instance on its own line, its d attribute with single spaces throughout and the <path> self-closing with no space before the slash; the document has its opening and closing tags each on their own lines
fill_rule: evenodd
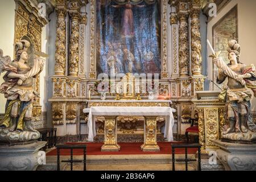
<svg viewBox="0 0 256 182">
<path fill-rule="evenodd" d="M 55 75 L 65 75 L 66 68 L 66 11 L 57 9 Z"/>
</svg>

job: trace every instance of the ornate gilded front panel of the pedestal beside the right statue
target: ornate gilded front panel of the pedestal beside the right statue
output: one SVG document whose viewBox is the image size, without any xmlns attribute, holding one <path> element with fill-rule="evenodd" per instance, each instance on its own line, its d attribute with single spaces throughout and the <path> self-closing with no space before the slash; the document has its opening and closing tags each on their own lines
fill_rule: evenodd
<svg viewBox="0 0 256 182">
<path fill-rule="evenodd" d="M 214 147 L 213 140 L 218 139 L 218 109 L 204 109 L 205 146 Z"/>
</svg>

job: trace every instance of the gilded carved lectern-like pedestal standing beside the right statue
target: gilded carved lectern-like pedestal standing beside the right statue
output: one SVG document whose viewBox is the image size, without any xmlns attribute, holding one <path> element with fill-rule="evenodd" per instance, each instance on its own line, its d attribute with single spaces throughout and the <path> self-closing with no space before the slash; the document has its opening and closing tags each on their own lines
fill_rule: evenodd
<svg viewBox="0 0 256 182">
<path fill-rule="evenodd" d="M 207 155 L 218 147 L 213 140 L 221 138 L 221 127 L 225 124 L 225 103 L 218 100 L 220 91 L 196 92 L 192 102 L 199 116 L 199 143 L 201 154 Z"/>
</svg>

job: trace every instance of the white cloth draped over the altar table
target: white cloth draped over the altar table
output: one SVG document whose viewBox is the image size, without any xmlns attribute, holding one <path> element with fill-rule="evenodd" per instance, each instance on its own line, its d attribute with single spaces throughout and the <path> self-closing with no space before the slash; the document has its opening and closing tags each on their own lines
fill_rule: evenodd
<svg viewBox="0 0 256 182">
<path fill-rule="evenodd" d="M 164 138 L 168 142 L 172 142 L 172 127 L 174 126 L 175 109 L 171 107 L 117 107 L 117 106 L 98 106 L 90 107 L 83 110 L 84 113 L 89 113 L 88 116 L 88 140 L 93 142 L 96 137 L 95 116 L 166 116 L 166 127 L 164 129 Z"/>
</svg>

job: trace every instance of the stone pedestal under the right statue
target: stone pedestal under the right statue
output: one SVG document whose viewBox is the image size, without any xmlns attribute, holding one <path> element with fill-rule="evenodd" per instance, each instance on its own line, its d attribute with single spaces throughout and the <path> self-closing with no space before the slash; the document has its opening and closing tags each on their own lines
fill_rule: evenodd
<svg viewBox="0 0 256 182">
<path fill-rule="evenodd" d="M 221 149 L 217 150 L 217 158 L 226 171 L 255 171 L 256 144 L 228 143 L 213 141 Z"/>
</svg>

